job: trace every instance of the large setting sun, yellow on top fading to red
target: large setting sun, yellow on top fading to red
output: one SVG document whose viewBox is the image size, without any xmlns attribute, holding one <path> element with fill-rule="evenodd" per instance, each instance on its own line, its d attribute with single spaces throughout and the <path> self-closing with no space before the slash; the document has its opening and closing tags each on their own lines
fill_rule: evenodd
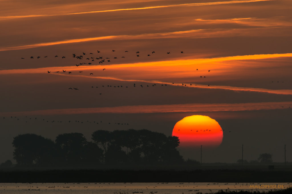
<svg viewBox="0 0 292 194">
<path fill-rule="evenodd" d="M 218 147 L 222 143 L 223 130 L 215 119 L 192 115 L 178 121 L 172 131 L 180 140 L 180 147 Z"/>
</svg>

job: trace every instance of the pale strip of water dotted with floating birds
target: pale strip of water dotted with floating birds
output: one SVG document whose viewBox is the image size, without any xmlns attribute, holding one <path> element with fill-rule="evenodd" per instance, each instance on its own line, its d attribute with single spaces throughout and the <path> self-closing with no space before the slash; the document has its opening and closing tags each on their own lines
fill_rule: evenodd
<svg viewBox="0 0 292 194">
<path fill-rule="evenodd" d="M 0 183 L 0 193 L 195 194 L 288 187 L 290 183 Z"/>
</svg>

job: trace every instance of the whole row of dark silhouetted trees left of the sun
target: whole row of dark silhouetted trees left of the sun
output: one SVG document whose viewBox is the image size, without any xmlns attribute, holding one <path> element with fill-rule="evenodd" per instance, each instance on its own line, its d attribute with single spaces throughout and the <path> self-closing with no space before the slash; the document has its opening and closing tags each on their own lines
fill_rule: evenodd
<svg viewBox="0 0 292 194">
<path fill-rule="evenodd" d="M 179 139 L 150 130 L 97 130 L 92 141 L 82 133 L 64 133 L 55 141 L 36 134 L 14 137 L 13 158 L 20 166 L 97 166 L 183 162 Z"/>
</svg>

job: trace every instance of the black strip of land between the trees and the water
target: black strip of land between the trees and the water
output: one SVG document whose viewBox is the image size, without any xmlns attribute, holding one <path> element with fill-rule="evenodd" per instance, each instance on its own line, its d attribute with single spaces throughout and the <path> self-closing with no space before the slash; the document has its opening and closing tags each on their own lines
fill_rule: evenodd
<svg viewBox="0 0 292 194">
<path fill-rule="evenodd" d="M 0 182 L 292 182 L 291 171 L 260 170 L 18 170 Z"/>
</svg>

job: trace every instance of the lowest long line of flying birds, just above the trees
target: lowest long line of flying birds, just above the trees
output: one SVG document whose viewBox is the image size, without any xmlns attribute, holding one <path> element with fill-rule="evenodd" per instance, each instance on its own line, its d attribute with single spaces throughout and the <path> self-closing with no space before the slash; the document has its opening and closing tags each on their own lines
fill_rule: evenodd
<svg viewBox="0 0 292 194">
<path fill-rule="evenodd" d="M 3 119 L 14 119 L 14 120 L 17 120 L 17 121 L 24 121 L 25 123 L 28 123 L 28 122 L 33 122 L 33 121 L 36 121 L 36 120 L 40 120 L 40 121 L 43 121 L 43 122 L 46 122 L 46 123 L 48 123 L 48 122 L 50 122 L 50 123 L 62 123 L 62 121 L 55 121 L 55 120 L 48 120 L 48 119 L 44 119 L 44 118 L 42 118 L 42 119 L 39 119 L 39 118 L 37 118 L 37 117 L 27 117 L 27 116 L 25 116 L 24 118 L 22 118 L 22 117 L 13 117 L 13 116 L 11 116 L 11 117 L 3 117 Z M 121 123 L 121 122 L 115 122 L 115 123 L 111 123 L 111 122 L 102 122 L 102 121 L 79 121 L 79 120 L 74 120 L 74 119 L 72 119 L 72 120 L 69 120 L 69 121 L 66 121 L 66 122 L 68 122 L 68 123 L 80 123 L 80 124 L 83 124 L 83 123 L 91 123 L 91 124 L 108 124 L 108 125 L 110 125 L 110 124 L 116 124 L 116 125 L 129 125 L 128 123 Z"/>
</svg>

